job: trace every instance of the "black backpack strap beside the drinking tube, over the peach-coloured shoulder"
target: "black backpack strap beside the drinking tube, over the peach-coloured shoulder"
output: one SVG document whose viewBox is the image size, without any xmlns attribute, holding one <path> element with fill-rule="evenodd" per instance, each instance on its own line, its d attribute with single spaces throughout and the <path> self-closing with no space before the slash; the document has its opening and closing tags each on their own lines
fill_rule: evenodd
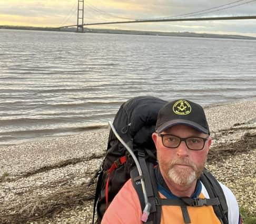
<svg viewBox="0 0 256 224">
<path fill-rule="evenodd" d="M 140 179 L 144 178 L 144 181 L 145 181 L 145 188 L 146 188 L 145 190 L 146 190 L 149 202 L 151 203 L 151 210 L 150 210 L 149 218 L 144 223 L 146 223 L 146 224 L 160 224 L 161 206 L 156 206 L 156 203 L 155 203 L 156 197 L 159 197 L 159 196 L 158 196 L 158 190 L 157 190 L 155 177 L 154 177 L 153 164 L 152 163 L 146 163 L 145 159 L 140 158 L 140 156 L 139 156 L 139 162 L 141 164 L 143 177 L 139 176 L 139 173 L 137 172 L 136 167 L 132 169 L 130 175 L 131 175 L 131 179 L 132 179 L 134 189 L 136 190 L 137 195 L 139 196 L 142 211 L 145 207 L 145 201 L 144 201 L 144 195 L 143 195 Z"/>
</svg>

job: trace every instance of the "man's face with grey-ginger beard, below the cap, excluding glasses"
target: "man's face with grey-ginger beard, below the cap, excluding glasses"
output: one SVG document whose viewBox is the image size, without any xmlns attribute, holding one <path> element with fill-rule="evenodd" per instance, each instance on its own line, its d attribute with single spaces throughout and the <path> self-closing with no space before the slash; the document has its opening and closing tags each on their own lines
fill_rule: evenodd
<svg viewBox="0 0 256 224">
<path fill-rule="evenodd" d="M 207 137 L 206 134 L 186 125 L 172 126 L 161 134 L 172 134 L 181 138 Z M 152 134 L 152 138 L 156 146 L 160 170 L 165 180 L 170 184 L 189 186 L 200 177 L 211 145 L 211 137 L 205 142 L 201 151 L 189 150 L 184 141 L 177 148 L 165 147 L 161 136 L 156 133 Z"/>
</svg>

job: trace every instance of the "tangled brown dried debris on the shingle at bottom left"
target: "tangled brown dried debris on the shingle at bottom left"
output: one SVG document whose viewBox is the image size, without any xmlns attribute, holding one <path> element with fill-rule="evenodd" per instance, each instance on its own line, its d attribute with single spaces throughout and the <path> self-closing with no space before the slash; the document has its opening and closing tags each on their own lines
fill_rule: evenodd
<svg viewBox="0 0 256 224">
<path fill-rule="evenodd" d="M 33 190 L 32 190 L 33 191 Z M 0 223 L 25 223 L 42 218 L 54 218 L 64 208 L 85 205 L 86 201 L 94 199 L 94 185 L 86 184 L 66 187 L 55 191 L 47 197 L 30 197 L 20 206 L 0 207 Z"/>
</svg>

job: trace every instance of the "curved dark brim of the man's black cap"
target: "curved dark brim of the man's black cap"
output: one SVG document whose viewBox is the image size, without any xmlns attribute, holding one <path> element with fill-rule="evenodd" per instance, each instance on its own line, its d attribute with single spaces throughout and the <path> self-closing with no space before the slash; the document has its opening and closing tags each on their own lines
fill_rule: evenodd
<svg viewBox="0 0 256 224">
<path fill-rule="evenodd" d="M 188 121 L 188 120 L 179 120 L 179 119 L 167 121 L 167 122 L 163 123 L 156 129 L 156 132 L 161 133 L 161 132 L 165 131 L 166 129 L 168 129 L 169 127 L 178 125 L 178 124 L 188 125 L 200 132 L 203 132 L 204 134 L 210 134 L 208 129 L 205 129 L 205 127 L 203 127 L 195 122 Z"/>
</svg>

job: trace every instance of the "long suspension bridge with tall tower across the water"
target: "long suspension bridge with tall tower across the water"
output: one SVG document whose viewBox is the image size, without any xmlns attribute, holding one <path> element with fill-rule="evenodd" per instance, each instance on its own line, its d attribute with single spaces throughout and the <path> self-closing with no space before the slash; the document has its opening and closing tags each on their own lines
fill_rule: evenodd
<svg viewBox="0 0 256 224">
<path fill-rule="evenodd" d="M 190 15 L 203 15 L 206 13 L 211 13 L 211 12 L 217 12 L 219 10 L 231 8 L 231 7 L 237 7 L 240 5 L 248 4 L 255 2 L 256 0 L 251 0 L 248 2 L 242 2 L 244 0 L 238 0 L 234 1 L 232 3 L 224 4 L 221 6 L 216 6 L 212 7 L 210 9 L 204 9 L 200 10 L 198 12 L 194 13 L 188 13 L 188 14 L 183 14 L 180 16 L 174 16 L 174 17 L 165 17 L 165 18 L 156 18 L 156 19 L 129 19 L 129 18 L 124 18 L 124 19 L 129 19 L 126 21 L 116 21 L 116 22 L 99 22 L 99 23 L 84 23 L 84 0 L 78 0 L 77 2 L 77 24 L 75 25 L 67 25 L 67 26 L 60 26 L 58 27 L 59 29 L 61 28 L 70 28 L 70 27 L 76 27 L 77 32 L 84 32 L 84 26 L 92 26 L 92 25 L 109 25 L 109 24 L 132 24 L 132 23 L 159 23 L 159 22 L 184 22 L 184 21 L 206 21 L 206 20 L 241 20 L 241 19 L 256 19 L 256 15 L 248 15 L 248 16 L 218 16 L 218 17 L 188 17 Z M 232 5 L 235 4 L 236 5 Z M 99 12 L 103 12 L 100 9 L 97 9 Z M 117 16 L 116 16 L 117 17 Z M 122 17 L 119 17 L 122 18 Z"/>
</svg>

